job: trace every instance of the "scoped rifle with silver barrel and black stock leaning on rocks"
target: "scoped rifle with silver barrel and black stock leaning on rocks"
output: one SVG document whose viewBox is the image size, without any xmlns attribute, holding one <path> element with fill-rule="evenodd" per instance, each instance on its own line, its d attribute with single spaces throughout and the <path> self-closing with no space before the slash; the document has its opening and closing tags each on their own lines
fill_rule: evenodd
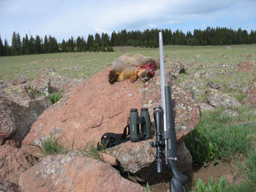
<svg viewBox="0 0 256 192">
<path fill-rule="evenodd" d="M 170 180 L 170 192 L 184 192 L 183 185 L 187 183 L 188 177 L 181 174 L 177 169 L 177 159 L 180 159 L 180 164 L 182 161 L 176 154 L 176 136 L 172 111 L 171 87 L 165 85 L 162 32 L 159 32 L 159 48 L 162 108 L 154 108 L 156 142 L 152 142 L 151 146 L 156 147 L 156 172 L 163 172 L 162 155 L 164 155 L 164 163 L 171 169 L 172 179 Z M 163 132 L 161 131 L 161 124 L 163 124 Z"/>
</svg>

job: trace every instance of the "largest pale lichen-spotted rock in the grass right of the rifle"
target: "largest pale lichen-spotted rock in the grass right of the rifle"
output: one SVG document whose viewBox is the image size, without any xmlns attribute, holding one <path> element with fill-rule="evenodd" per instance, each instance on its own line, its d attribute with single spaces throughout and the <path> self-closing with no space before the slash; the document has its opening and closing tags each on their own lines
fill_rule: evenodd
<svg viewBox="0 0 256 192">
<path fill-rule="evenodd" d="M 234 97 L 222 93 L 216 89 L 207 88 L 205 94 L 208 102 L 214 107 L 241 107 L 241 103 Z"/>
</svg>

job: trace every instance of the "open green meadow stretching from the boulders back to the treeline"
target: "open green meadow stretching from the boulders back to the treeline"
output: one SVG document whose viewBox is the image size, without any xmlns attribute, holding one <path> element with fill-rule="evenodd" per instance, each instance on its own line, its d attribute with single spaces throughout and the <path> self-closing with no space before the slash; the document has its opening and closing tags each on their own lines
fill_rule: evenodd
<svg viewBox="0 0 256 192">
<path fill-rule="evenodd" d="M 125 54 L 120 51 L 124 48 L 129 54 L 159 57 L 158 48 L 140 47 L 114 47 L 115 52 L 68 52 L 0 57 L 0 78 L 8 81 L 26 76 L 33 80 L 45 67 L 52 67 L 61 75 L 88 79 L 106 68 L 105 64 L 111 64 Z M 247 59 L 255 60 L 255 53 L 255 44 L 232 45 L 231 50 L 225 49 L 225 46 L 164 46 L 164 55 L 173 61 L 182 61 L 185 66 L 193 61 L 198 64 L 238 64 Z"/>
</svg>

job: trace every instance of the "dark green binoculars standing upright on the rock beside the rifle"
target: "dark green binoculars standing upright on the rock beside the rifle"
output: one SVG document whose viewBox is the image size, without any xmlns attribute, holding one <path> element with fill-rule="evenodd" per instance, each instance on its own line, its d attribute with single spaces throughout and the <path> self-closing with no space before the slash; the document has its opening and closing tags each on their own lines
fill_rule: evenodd
<svg viewBox="0 0 256 192">
<path fill-rule="evenodd" d="M 130 109 L 130 140 L 132 142 L 151 139 L 151 121 L 148 108 L 141 108 L 140 116 L 138 109 Z M 141 125 L 141 133 L 140 133 Z"/>
</svg>

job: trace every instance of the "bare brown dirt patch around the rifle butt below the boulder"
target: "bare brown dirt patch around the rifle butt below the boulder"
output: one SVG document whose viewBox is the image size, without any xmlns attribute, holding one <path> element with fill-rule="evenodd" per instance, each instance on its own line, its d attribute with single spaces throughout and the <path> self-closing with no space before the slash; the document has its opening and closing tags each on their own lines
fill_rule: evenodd
<svg viewBox="0 0 256 192">
<path fill-rule="evenodd" d="M 225 179 L 228 183 L 239 183 L 242 180 L 242 178 L 238 175 L 235 166 L 231 163 L 225 162 L 219 162 L 216 165 L 209 164 L 207 167 L 204 167 L 202 165 L 194 165 L 193 169 L 189 172 L 184 173 L 184 175 L 188 176 L 188 187 L 194 191 L 196 191 L 195 184 L 198 178 L 200 178 L 204 181 L 205 184 L 207 184 L 211 175 L 213 177 L 213 180 L 216 180 L 217 182 L 223 175 L 225 175 Z M 169 188 L 170 183 L 166 181 L 150 185 L 151 192 L 165 192 Z"/>
</svg>

